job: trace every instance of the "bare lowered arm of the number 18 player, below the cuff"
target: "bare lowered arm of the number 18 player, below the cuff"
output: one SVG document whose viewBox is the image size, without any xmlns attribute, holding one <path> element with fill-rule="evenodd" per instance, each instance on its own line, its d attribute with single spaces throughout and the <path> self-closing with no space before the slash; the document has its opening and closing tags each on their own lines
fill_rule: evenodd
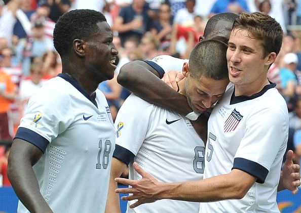
<svg viewBox="0 0 301 213">
<path fill-rule="evenodd" d="M 30 212 L 51 213 L 32 169 L 42 155 L 43 152 L 33 144 L 14 139 L 8 158 L 8 177 L 18 198 Z"/>
</svg>

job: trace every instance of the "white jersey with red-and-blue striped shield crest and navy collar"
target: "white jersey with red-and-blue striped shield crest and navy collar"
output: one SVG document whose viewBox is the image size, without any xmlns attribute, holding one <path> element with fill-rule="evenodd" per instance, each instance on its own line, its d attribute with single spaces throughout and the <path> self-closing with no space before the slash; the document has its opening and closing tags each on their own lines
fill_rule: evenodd
<svg viewBox="0 0 301 213">
<path fill-rule="evenodd" d="M 200 212 L 279 212 L 277 185 L 288 139 L 287 106 L 269 84 L 261 92 L 218 101 L 208 121 L 204 178 L 232 168 L 257 178 L 244 198 L 201 203 Z"/>
</svg>

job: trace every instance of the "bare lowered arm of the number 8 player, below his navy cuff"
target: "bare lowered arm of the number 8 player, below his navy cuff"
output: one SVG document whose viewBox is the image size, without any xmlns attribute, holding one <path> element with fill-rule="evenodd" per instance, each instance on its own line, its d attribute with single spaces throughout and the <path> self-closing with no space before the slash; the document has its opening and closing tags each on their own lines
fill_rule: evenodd
<svg viewBox="0 0 301 213">
<path fill-rule="evenodd" d="M 110 180 L 109 180 L 109 189 L 105 206 L 105 213 L 120 213 L 120 203 L 119 203 L 119 194 L 115 193 L 117 189 L 117 183 L 115 178 L 119 178 L 123 173 L 127 165 L 113 157 L 111 164 Z"/>
</svg>

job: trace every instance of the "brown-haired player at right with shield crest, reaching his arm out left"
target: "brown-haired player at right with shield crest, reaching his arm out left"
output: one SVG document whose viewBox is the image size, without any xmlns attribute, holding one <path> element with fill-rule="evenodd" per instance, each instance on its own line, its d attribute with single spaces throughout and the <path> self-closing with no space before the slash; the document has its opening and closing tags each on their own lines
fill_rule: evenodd
<svg viewBox="0 0 301 213">
<path fill-rule="evenodd" d="M 209 118 L 205 179 L 162 183 L 134 163 L 140 181 L 116 179 L 133 187 L 116 190 L 133 193 L 124 197 L 138 199 L 131 207 L 176 199 L 202 202 L 200 212 L 279 212 L 276 193 L 288 113 L 267 70 L 279 53 L 282 36 L 279 23 L 267 14 L 241 14 L 235 20 L 227 51 L 233 84 Z"/>
</svg>

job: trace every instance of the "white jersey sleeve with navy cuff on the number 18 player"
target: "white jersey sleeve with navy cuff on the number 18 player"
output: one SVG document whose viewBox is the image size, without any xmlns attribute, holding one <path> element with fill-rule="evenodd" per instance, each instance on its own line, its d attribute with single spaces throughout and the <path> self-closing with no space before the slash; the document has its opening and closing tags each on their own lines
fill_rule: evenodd
<svg viewBox="0 0 301 213">
<path fill-rule="evenodd" d="M 39 147 L 43 152 L 73 120 L 69 96 L 59 87 L 44 87 L 32 96 L 15 138 Z"/>
</svg>

